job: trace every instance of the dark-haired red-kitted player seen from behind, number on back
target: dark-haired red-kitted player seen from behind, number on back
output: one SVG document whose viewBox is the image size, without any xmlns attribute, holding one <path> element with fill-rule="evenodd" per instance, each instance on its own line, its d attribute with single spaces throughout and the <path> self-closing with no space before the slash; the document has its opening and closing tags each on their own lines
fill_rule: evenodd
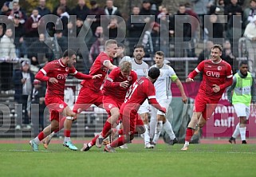
<svg viewBox="0 0 256 177">
<path fill-rule="evenodd" d="M 125 96 L 124 104 L 120 108 L 120 116 L 123 124 L 123 136 L 104 147 L 104 151 L 113 152 L 114 148 L 130 142 L 136 133 L 136 125 L 144 125 L 139 118 L 138 110 L 144 100 L 161 112 L 166 112 L 166 108 L 160 106 L 156 100 L 156 90 L 153 83 L 160 76 L 160 69 L 152 67 L 148 70 L 148 77 L 141 77 L 133 85 L 130 86 Z"/>
</svg>

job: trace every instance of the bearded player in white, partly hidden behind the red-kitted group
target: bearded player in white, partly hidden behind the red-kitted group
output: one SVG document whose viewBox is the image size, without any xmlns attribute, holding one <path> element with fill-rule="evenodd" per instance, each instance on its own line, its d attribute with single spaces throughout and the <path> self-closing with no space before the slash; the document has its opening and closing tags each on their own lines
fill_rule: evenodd
<svg viewBox="0 0 256 177">
<path fill-rule="evenodd" d="M 132 69 L 137 73 L 138 79 L 140 79 L 140 77 L 147 77 L 147 74 L 148 74 L 149 66 L 145 61 L 143 61 L 144 55 L 145 55 L 144 45 L 136 45 L 133 50 L 134 58 L 124 57 L 122 59 L 122 61 L 130 61 L 132 63 Z M 145 148 L 152 148 L 152 145 L 150 144 L 150 136 L 149 136 L 148 112 L 149 112 L 149 104 L 148 104 L 148 100 L 145 100 L 144 104 L 140 106 L 138 113 L 140 114 L 140 117 L 143 120 L 144 127 L 146 129 L 146 131 L 144 132 Z"/>
</svg>

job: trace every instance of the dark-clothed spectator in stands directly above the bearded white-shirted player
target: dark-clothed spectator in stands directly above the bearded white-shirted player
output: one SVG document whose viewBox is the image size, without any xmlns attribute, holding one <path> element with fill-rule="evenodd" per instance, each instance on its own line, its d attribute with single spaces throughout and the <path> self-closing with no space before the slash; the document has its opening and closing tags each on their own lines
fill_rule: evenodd
<svg viewBox="0 0 256 177">
<path fill-rule="evenodd" d="M 133 47 L 137 44 L 138 39 L 142 36 L 144 30 L 144 18 L 140 17 L 140 7 L 132 7 L 132 15 L 128 18 L 127 21 L 127 32 L 128 32 L 128 41 L 129 41 L 129 53 L 131 56 L 133 53 Z M 133 22 L 131 21 L 133 19 Z"/>
</svg>

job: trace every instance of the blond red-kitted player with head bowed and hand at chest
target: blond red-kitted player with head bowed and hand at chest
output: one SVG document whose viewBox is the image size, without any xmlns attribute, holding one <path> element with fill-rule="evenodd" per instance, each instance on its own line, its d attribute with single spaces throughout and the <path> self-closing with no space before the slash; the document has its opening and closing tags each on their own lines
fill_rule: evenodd
<svg viewBox="0 0 256 177">
<path fill-rule="evenodd" d="M 89 144 L 84 144 L 81 151 L 89 151 L 95 144 L 98 148 L 101 148 L 101 144 L 104 138 L 108 136 L 110 129 L 116 127 L 120 116 L 119 108 L 124 103 L 128 88 L 136 80 L 137 74 L 132 70 L 132 64 L 129 61 L 121 62 L 120 67 L 113 69 L 108 75 L 103 86 L 103 106 L 108 112 L 108 120 L 104 124 L 100 135 L 94 137 Z"/>
</svg>

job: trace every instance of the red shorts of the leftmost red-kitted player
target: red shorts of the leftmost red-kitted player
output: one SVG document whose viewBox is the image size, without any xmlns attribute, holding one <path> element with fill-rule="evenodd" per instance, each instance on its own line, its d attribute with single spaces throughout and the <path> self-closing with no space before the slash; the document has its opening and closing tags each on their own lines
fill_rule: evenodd
<svg viewBox="0 0 256 177">
<path fill-rule="evenodd" d="M 61 112 L 65 109 L 65 107 L 68 106 L 64 102 L 64 98 L 62 96 L 54 96 L 54 97 L 45 97 L 45 105 L 47 108 L 49 108 L 49 120 L 61 120 L 62 117 L 64 117 Z"/>
</svg>

